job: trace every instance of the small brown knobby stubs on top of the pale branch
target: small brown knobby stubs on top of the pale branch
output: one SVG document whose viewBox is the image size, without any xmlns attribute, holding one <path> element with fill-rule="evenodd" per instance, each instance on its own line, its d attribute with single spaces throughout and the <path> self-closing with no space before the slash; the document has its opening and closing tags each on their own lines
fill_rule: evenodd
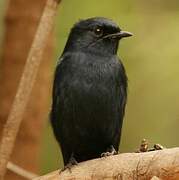
<svg viewBox="0 0 179 180">
<path fill-rule="evenodd" d="M 162 150 L 162 149 L 164 149 L 164 147 L 160 144 L 154 144 L 152 148 L 149 148 L 148 141 L 146 139 L 143 139 L 139 149 L 135 152 L 140 153 L 140 152 L 149 152 L 149 151 L 156 151 L 156 150 Z"/>
</svg>

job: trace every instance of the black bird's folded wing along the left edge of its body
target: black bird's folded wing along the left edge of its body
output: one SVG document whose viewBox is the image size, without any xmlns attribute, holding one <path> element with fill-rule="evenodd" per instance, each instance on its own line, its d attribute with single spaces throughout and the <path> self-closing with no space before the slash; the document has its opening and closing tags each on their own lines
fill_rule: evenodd
<svg viewBox="0 0 179 180">
<path fill-rule="evenodd" d="M 64 121 L 71 116 L 72 112 L 69 112 L 69 109 L 65 108 L 66 102 L 69 101 L 69 91 L 68 91 L 68 82 L 71 80 L 71 67 L 73 66 L 71 60 L 74 60 L 72 54 L 64 55 L 57 64 L 55 74 L 54 74 L 54 83 L 53 83 L 53 94 L 52 94 L 52 109 L 50 114 L 51 124 L 53 127 L 54 135 L 57 141 L 60 143 L 64 163 L 66 164 L 69 161 L 69 158 L 72 154 L 72 149 L 69 145 L 66 144 L 64 139 L 64 134 L 68 132 L 68 128 L 72 125 L 63 126 Z M 70 138 L 69 138 L 70 139 Z"/>
</svg>

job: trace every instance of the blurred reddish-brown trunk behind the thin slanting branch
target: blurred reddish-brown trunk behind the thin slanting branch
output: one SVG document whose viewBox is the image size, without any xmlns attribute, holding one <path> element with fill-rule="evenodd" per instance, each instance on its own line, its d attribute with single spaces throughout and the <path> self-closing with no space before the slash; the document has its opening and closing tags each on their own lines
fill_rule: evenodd
<svg viewBox="0 0 179 180">
<path fill-rule="evenodd" d="M 10 0 L 9 2 L 5 16 L 0 72 L 0 132 L 8 117 L 45 3 L 44 0 Z M 11 156 L 13 163 L 32 172 L 38 171 L 41 133 L 48 117 L 52 48 L 51 35 Z M 5 179 L 15 180 L 20 177 L 8 172 Z"/>
</svg>

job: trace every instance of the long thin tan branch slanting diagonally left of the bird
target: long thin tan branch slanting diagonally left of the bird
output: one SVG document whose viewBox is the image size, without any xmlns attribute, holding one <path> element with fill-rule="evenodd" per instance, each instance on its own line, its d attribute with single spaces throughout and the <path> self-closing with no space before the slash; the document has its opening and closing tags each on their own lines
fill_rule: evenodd
<svg viewBox="0 0 179 180">
<path fill-rule="evenodd" d="M 46 45 L 48 35 L 53 27 L 58 2 L 60 1 L 47 0 L 37 33 L 27 58 L 17 94 L 3 129 L 2 142 L 0 145 L 0 179 L 3 179 L 6 172 L 7 163 L 14 147 L 14 142 L 23 118 L 23 113 L 42 60 L 42 52 Z"/>
</svg>

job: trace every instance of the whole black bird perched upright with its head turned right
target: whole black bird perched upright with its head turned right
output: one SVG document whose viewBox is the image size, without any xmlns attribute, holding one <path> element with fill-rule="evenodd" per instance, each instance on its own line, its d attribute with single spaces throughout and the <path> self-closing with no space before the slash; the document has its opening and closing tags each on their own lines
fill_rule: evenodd
<svg viewBox="0 0 179 180">
<path fill-rule="evenodd" d="M 118 151 L 127 76 L 117 49 L 131 35 L 103 17 L 71 29 L 56 67 L 51 110 L 65 166 Z"/>
</svg>

